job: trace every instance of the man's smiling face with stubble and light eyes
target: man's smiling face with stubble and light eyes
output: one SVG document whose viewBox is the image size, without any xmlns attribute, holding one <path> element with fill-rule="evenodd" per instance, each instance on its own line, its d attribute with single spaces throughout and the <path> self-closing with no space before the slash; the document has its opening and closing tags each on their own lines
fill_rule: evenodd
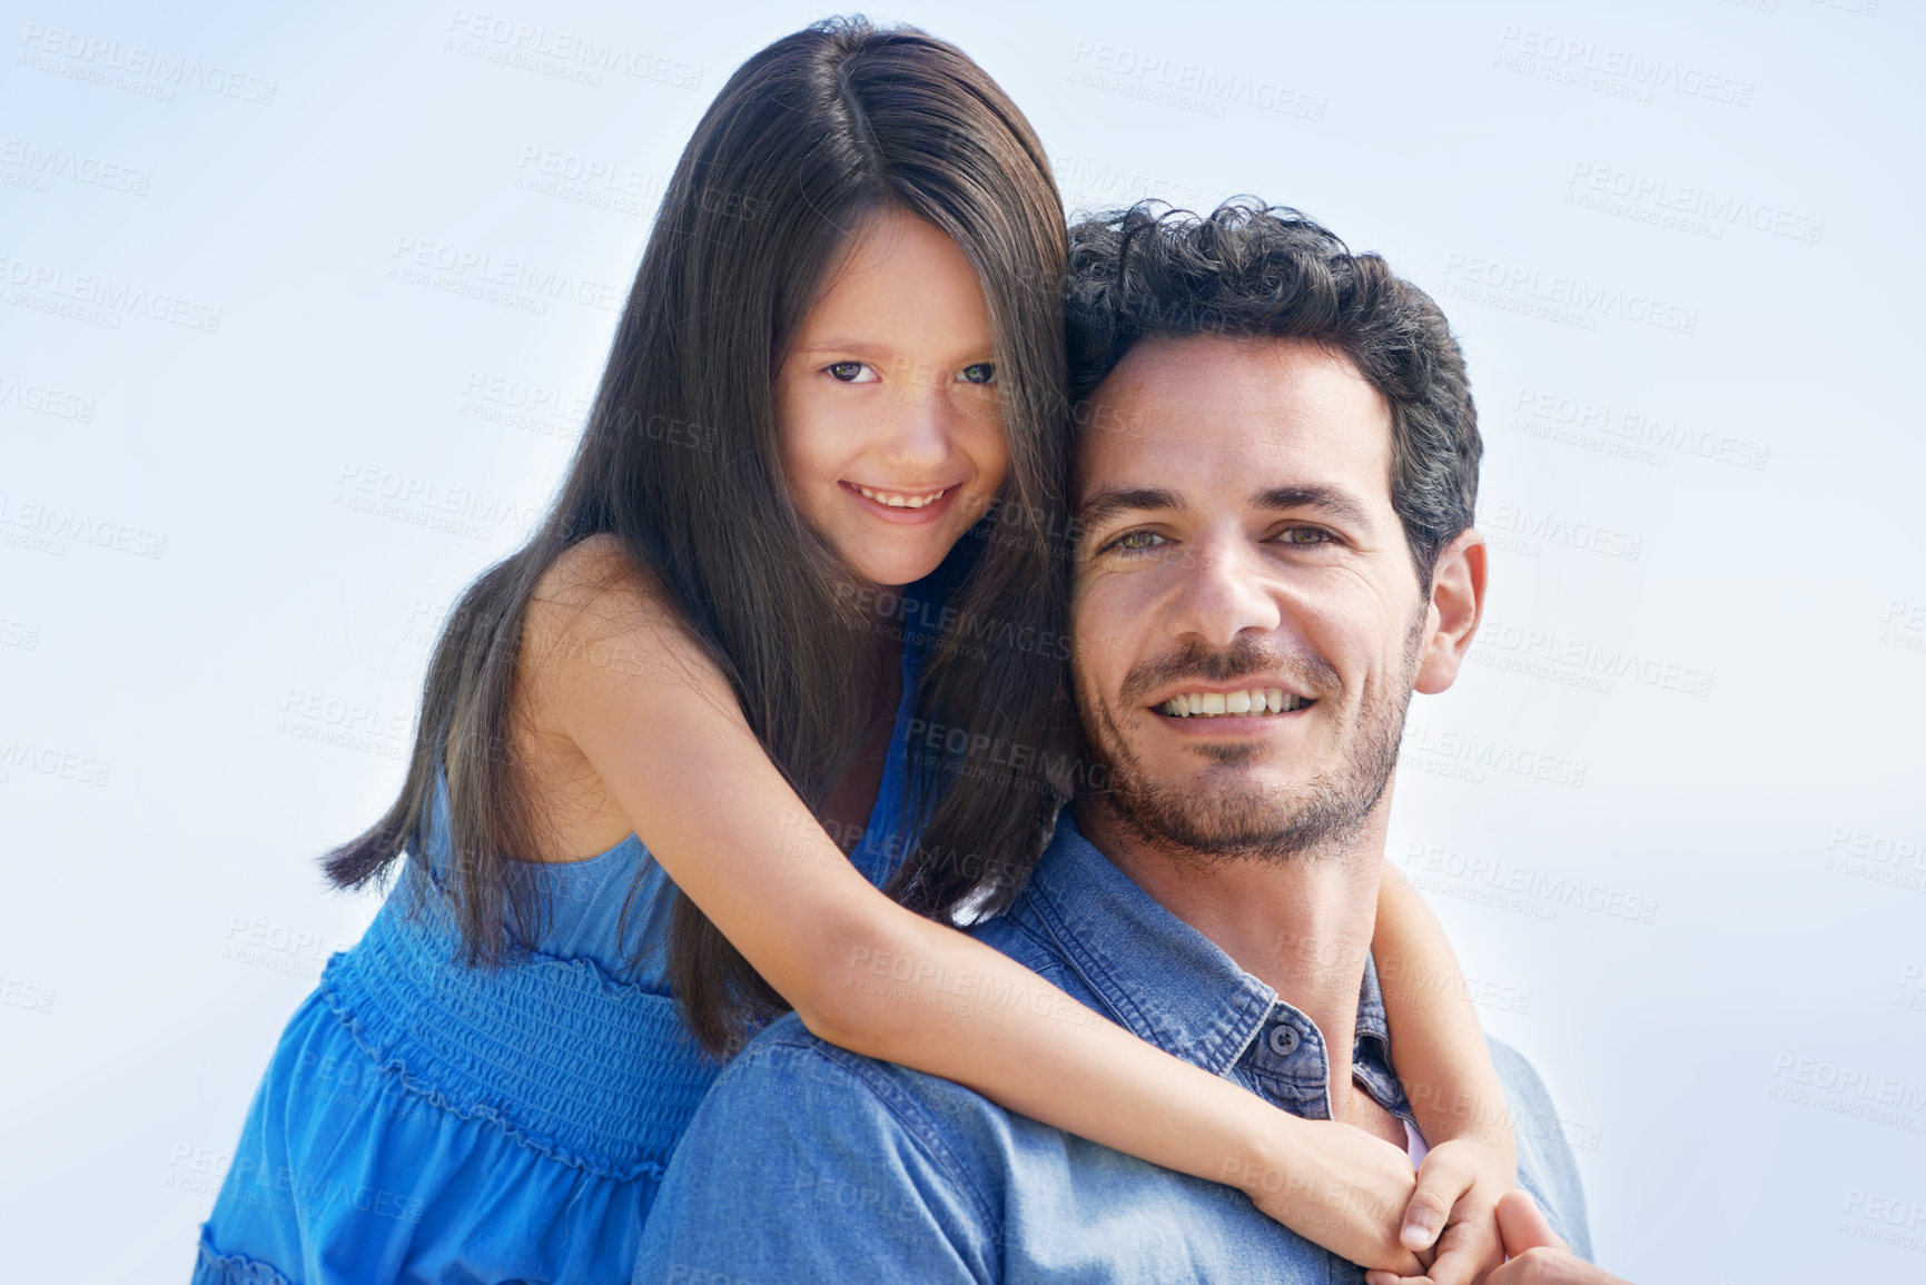
<svg viewBox="0 0 1926 1285">
<path fill-rule="evenodd" d="M 1138 343 L 1090 401 L 1073 638 L 1104 801 L 1194 855 L 1346 844 L 1437 624 L 1391 408 L 1344 356 L 1225 337 Z"/>
</svg>

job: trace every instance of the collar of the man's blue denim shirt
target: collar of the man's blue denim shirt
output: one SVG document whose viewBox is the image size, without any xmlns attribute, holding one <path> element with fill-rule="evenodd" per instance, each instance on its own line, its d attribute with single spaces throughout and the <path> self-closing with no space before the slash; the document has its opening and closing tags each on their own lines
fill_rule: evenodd
<svg viewBox="0 0 1926 1285">
<path fill-rule="evenodd" d="M 1269 984 L 1098 852 L 1067 807 L 1009 915 L 1044 927 L 1065 963 L 1138 1038 L 1213 1075 L 1231 1069 L 1279 1004 Z M 1354 1060 L 1391 1069 L 1391 1031 L 1369 956 Z"/>
</svg>

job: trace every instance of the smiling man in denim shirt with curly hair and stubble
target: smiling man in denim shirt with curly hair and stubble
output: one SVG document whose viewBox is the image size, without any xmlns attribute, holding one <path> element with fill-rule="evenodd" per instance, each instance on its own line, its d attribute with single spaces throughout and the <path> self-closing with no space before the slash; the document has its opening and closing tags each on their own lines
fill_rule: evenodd
<svg viewBox="0 0 1926 1285">
<path fill-rule="evenodd" d="M 1292 212 L 1088 222 L 1073 272 L 1075 694 L 1098 788 L 973 934 L 1285 1110 L 1402 1141 L 1369 940 L 1406 703 L 1450 686 L 1485 595 L 1462 354 L 1421 291 Z M 1493 1058 L 1514 1117 L 1556 1117 L 1516 1052 Z M 1535 1202 L 1500 1204 L 1514 1258 L 1489 1281 L 1610 1281 L 1562 1245 L 1589 1245 L 1570 1150 L 1527 1131 L 1518 1158 Z M 1358 1275 L 1227 1185 L 794 1015 L 709 1092 L 636 1272 Z"/>
</svg>

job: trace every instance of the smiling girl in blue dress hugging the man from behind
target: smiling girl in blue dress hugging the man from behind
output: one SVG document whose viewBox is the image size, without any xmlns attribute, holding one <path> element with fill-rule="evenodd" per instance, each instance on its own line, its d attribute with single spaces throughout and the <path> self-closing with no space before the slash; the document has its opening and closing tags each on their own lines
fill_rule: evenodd
<svg viewBox="0 0 1926 1285">
<path fill-rule="evenodd" d="M 1489 1266 L 1512 1139 L 1470 1006 L 1387 994 L 1414 1196 L 1396 1148 L 950 927 L 1007 904 L 1075 773 L 1063 272 L 1044 150 L 953 46 L 838 21 L 736 71 L 555 511 L 462 597 L 401 798 L 329 857 L 347 888 L 412 859 L 289 1021 L 196 1281 L 628 1281 L 718 1058 L 788 1006 L 1366 1266 L 1416 1272 L 1406 1204 L 1456 1206 L 1439 1279 Z M 1375 946 L 1456 975 L 1396 880 Z M 853 984 L 882 954 L 919 967 Z M 917 981 L 957 973 L 1021 1002 L 959 1038 Z"/>
</svg>

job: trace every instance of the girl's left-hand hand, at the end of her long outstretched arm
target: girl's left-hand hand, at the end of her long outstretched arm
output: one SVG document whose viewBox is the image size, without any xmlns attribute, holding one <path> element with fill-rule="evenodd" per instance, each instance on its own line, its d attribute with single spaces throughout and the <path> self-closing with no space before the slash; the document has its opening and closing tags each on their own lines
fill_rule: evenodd
<svg viewBox="0 0 1926 1285">
<path fill-rule="evenodd" d="M 1387 1273 L 1423 1272 L 1431 1254 L 1398 1243 L 1418 1189 L 1410 1156 L 1352 1125 L 1294 1115 L 1281 1123 L 1285 1141 L 1273 1154 L 1283 1164 L 1238 1181 L 1252 1202 L 1339 1258 Z"/>
</svg>

